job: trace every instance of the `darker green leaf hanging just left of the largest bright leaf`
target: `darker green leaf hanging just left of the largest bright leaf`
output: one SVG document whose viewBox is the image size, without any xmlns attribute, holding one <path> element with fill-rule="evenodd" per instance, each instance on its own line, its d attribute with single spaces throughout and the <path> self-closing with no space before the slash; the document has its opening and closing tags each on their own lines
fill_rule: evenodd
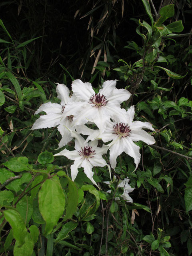
<svg viewBox="0 0 192 256">
<path fill-rule="evenodd" d="M 17 203 L 16 210 L 18 210 L 22 218 L 25 220 L 25 223 L 28 224 L 33 213 L 32 200 L 28 196 L 24 196 Z"/>
</svg>

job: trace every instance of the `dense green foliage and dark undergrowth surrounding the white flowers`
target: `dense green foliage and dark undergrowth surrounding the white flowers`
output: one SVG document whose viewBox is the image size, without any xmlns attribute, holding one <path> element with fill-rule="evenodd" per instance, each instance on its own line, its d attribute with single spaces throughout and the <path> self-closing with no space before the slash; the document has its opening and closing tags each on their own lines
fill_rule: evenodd
<svg viewBox="0 0 192 256">
<path fill-rule="evenodd" d="M 190 255 L 191 3 L 83 2 L 0 3 L 0 253 Z M 101 190 L 83 168 L 73 182 L 73 162 L 53 156 L 62 138 L 56 128 L 31 130 L 42 103 L 60 104 L 55 82 L 71 89 L 74 79 L 95 92 L 119 80 L 117 88 L 132 93 L 122 108 L 134 105 L 134 120 L 155 129 L 155 144 L 135 142 L 135 171 L 125 153 L 112 182 L 104 183 L 107 166 L 94 167 Z M 125 178 L 134 190 L 123 188 Z M 125 189 L 133 202 L 124 200 Z"/>
</svg>

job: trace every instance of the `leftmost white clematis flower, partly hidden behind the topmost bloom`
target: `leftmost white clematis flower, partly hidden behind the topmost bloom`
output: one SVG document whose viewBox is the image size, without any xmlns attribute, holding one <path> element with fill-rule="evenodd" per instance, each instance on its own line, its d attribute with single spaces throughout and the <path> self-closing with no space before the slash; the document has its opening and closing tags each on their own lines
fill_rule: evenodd
<svg viewBox="0 0 192 256">
<path fill-rule="evenodd" d="M 61 103 L 44 103 L 42 104 L 35 114 L 38 114 L 41 111 L 46 112 L 46 115 L 40 116 L 33 126 L 32 130 L 40 128 L 50 128 L 58 125 L 57 129 L 62 135 L 62 139 L 59 142 L 59 148 L 65 146 L 68 142 L 72 140 L 70 130 L 75 130 L 73 116 L 68 116 L 65 114 L 65 106 L 68 102 L 77 101 L 75 96 L 69 97 L 69 89 L 64 84 L 58 84 L 56 87 L 56 92 L 58 98 L 61 100 Z M 67 128 L 66 128 L 67 127 Z"/>
</svg>

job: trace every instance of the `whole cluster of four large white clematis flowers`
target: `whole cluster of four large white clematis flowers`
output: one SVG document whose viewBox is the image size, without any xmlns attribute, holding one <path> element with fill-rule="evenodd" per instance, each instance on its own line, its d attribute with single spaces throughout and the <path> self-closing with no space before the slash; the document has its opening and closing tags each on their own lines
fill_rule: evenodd
<svg viewBox="0 0 192 256">
<path fill-rule="evenodd" d="M 78 168 L 83 167 L 85 174 L 97 186 L 93 179 L 93 166 L 116 167 L 116 159 L 125 152 L 134 159 L 135 169 L 140 162 L 139 146 L 134 142 L 144 141 L 153 144 L 154 138 L 148 132 L 142 130 L 147 128 L 154 130 L 148 122 L 133 122 L 134 106 L 127 111 L 120 104 L 128 100 L 130 92 L 125 89 L 116 88 L 116 80 L 105 81 L 102 88 L 96 93 L 92 85 L 81 80 L 72 83 L 72 96 L 64 84 L 56 87 L 60 104 L 44 103 L 35 114 L 42 111 L 46 115 L 40 116 L 32 126 L 32 129 L 50 128 L 57 126 L 62 135 L 59 147 L 65 146 L 75 138 L 75 150 L 62 150 L 54 156 L 66 156 L 74 160 L 71 165 L 71 176 L 74 180 L 78 174 Z M 95 124 L 98 129 L 88 127 Z M 86 140 L 80 135 L 86 135 Z M 98 140 L 109 142 L 98 147 Z M 110 166 L 102 155 L 109 150 Z"/>
</svg>

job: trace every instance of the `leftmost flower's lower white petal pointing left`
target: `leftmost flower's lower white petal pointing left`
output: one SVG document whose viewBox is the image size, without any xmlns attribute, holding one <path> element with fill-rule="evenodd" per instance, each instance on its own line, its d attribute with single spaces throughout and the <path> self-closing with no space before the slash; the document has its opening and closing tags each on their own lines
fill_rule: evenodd
<svg viewBox="0 0 192 256">
<path fill-rule="evenodd" d="M 62 116 L 62 113 L 59 113 L 59 114 L 55 113 L 54 115 L 48 114 L 48 115 L 40 116 L 40 118 L 38 118 L 34 122 L 31 129 L 34 130 L 34 129 L 55 127 L 58 124 L 60 124 L 61 116 Z"/>
</svg>

